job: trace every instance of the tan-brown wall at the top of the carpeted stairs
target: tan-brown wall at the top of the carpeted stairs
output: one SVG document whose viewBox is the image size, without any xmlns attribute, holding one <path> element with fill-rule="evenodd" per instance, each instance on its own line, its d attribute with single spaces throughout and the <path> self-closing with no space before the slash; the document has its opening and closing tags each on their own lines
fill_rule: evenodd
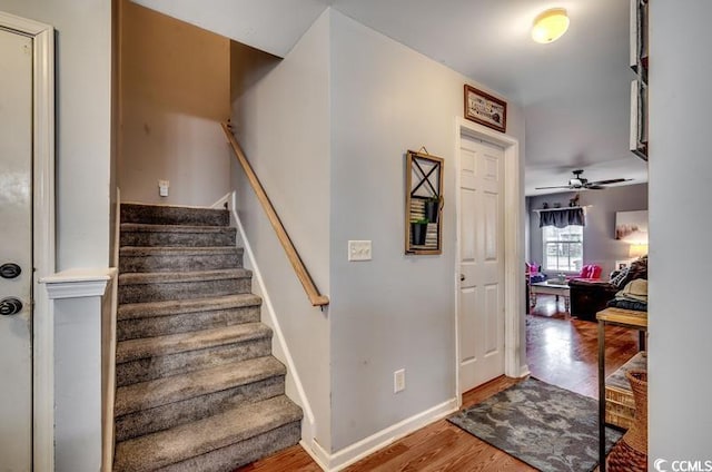
<svg viewBox="0 0 712 472">
<path fill-rule="evenodd" d="M 209 206 L 229 190 L 230 41 L 129 0 L 120 10 L 121 199 Z"/>
</svg>

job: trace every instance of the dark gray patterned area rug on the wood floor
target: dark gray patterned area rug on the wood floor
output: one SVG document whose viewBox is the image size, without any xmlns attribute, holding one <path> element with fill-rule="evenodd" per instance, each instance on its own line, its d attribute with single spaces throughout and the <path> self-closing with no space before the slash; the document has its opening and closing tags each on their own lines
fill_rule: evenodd
<svg viewBox="0 0 712 472">
<path fill-rule="evenodd" d="M 530 377 L 447 420 L 542 471 L 599 463 L 599 402 Z M 606 451 L 622 433 L 606 427 Z"/>
</svg>

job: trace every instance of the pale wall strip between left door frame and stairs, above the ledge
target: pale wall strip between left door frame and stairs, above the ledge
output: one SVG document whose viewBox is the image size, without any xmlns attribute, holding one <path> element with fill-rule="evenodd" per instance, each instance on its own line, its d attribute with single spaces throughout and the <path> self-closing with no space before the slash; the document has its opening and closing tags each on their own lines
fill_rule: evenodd
<svg viewBox="0 0 712 472">
<path fill-rule="evenodd" d="M 107 267 L 111 151 L 111 2 L 1 0 L 57 30 L 57 269 Z"/>
</svg>

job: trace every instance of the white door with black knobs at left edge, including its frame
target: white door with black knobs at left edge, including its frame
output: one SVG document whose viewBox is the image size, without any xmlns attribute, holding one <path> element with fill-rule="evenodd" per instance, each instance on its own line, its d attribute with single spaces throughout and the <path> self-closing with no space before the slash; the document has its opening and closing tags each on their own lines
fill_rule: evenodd
<svg viewBox="0 0 712 472">
<path fill-rule="evenodd" d="M 55 30 L 0 11 L 0 469 L 53 466 Z"/>
</svg>

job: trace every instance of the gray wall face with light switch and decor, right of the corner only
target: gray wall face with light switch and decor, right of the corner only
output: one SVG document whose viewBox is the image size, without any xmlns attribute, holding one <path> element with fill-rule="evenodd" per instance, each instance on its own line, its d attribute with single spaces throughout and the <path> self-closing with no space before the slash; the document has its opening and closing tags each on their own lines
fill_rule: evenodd
<svg viewBox="0 0 712 472">
<path fill-rule="evenodd" d="M 465 82 L 332 10 L 333 451 L 456 396 L 455 119 Z M 523 138 L 521 109 L 510 102 L 507 115 L 508 134 Z M 404 255 L 404 156 L 421 146 L 445 159 L 439 256 Z M 349 239 L 370 239 L 373 260 L 347 262 Z M 394 394 L 399 368 L 406 390 Z"/>
</svg>

